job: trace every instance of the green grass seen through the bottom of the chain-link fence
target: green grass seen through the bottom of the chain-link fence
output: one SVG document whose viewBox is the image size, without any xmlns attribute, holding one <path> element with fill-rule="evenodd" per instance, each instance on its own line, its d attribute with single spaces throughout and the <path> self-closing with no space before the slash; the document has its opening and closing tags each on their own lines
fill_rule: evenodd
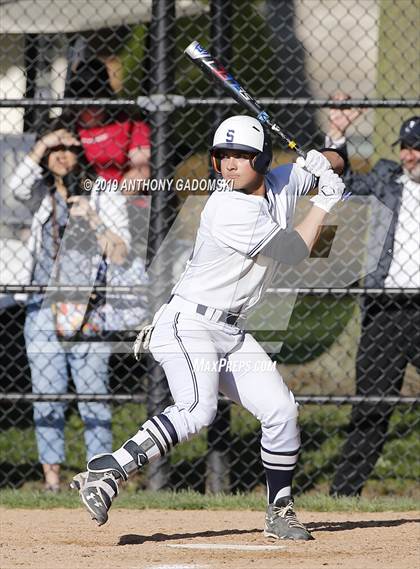
<svg viewBox="0 0 420 569">
<path fill-rule="evenodd" d="M 328 494 L 335 465 L 345 440 L 346 425 L 351 407 L 304 405 L 300 424 L 303 448 L 295 476 L 296 491 L 322 491 Z M 114 447 L 120 446 L 134 434 L 146 418 L 144 405 L 126 404 L 113 410 Z M 419 413 L 414 409 L 398 407 L 391 420 L 387 443 L 368 481 L 369 496 L 419 496 L 420 436 Z M 263 469 L 259 456 L 259 423 L 244 409 L 233 405 L 230 422 L 231 482 L 234 492 L 254 491 L 264 485 Z M 205 475 L 205 458 L 208 452 L 207 433 L 202 432 L 188 443 L 173 449 L 170 460 L 175 488 L 191 487 L 203 490 L 201 477 Z M 245 458 L 245 454 L 246 458 Z M 63 481 L 85 468 L 83 425 L 76 413 L 66 422 L 66 463 Z M 242 457 L 242 458 L 238 458 Z M 251 462 L 250 462 L 251 461 Z M 41 487 L 34 431 L 16 427 L 0 432 L 0 465 L 4 475 L 19 486 L 25 479 L 24 489 Z M 13 474 L 13 469 L 19 473 Z M 146 486 L 147 470 L 136 478 L 136 484 Z M 9 482 L 10 483 L 10 482 Z"/>
</svg>

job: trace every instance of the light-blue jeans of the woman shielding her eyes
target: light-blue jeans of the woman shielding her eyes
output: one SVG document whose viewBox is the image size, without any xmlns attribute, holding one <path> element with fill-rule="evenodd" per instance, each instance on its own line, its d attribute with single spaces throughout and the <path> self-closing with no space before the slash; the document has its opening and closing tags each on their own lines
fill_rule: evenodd
<svg viewBox="0 0 420 569">
<path fill-rule="evenodd" d="M 105 342 L 77 342 L 64 349 L 57 340 L 50 308 L 28 310 L 25 342 L 31 368 L 32 392 L 67 392 L 68 369 L 79 394 L 108 393 L 110 347 Z M 34 403 L 35 433 L 42 464 L 65 459 L 64 414 L 66 403 Z M 111 408 L 107 403 L 79 402 L 85 426 L 87 460 L 101 452 L 112 452 Z"/>
</svg>

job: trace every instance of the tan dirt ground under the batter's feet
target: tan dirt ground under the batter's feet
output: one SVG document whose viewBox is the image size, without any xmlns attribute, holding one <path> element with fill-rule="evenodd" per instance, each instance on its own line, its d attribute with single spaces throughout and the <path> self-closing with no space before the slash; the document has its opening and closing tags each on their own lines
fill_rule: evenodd
<svg viewBox="0 0 420 569">
<path fill-rule="evenodd" d="M 1 569 L 418 569 L 420 512 L 311 513 L 315 541 L 264 538 L 263 513 L 118 510 L 98 528 L 78 510 L 0 508 Z M 229 544 L 237 549 L 178 549 Z M 241 550 L 244 546 L 284 549 Z"/>
</svg>

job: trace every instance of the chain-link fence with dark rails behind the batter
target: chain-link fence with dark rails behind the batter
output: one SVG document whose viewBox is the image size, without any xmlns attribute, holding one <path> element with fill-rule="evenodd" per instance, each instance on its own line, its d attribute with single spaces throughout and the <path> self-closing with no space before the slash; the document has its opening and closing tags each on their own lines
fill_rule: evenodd
<svg viewBox="0 0 420 569">
<path fill-rule="evenodd" d="M 116 448 L 170 402 L 132 343 L 192 250 L 212 133 L 244 112 L 183 55 L 199 40 L 304 149 L 347 143 L 351 199 L 247 323 L 301 404 L 296 490 L 415 491 L 419 158 L 392 143 L 419 116 L 419 11 L 417 0 L 0 1 L 1 486 L 40 480 L 41 463 L 70 478 L 86 452 Z M 295 159 L 273 142 L 275 165 Z M 259 438 L 221 398 L 208 431 L 138 484 L 261 489 Z"/>
</svg>

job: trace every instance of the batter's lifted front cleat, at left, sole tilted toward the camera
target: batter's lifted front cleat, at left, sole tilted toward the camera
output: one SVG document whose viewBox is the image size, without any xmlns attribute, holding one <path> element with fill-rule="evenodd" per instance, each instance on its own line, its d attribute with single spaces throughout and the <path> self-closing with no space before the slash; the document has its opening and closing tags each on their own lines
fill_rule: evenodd
<svg viewBox="0 0 420 569">
<path fill-rule="evenodd" d="M 73 478 L 70 487 L 79 491 L 80 499 L 98 526 L 108 521 L 108 511 L 118 496 L 118 472 L 81 472 Z"/>
</svg>

